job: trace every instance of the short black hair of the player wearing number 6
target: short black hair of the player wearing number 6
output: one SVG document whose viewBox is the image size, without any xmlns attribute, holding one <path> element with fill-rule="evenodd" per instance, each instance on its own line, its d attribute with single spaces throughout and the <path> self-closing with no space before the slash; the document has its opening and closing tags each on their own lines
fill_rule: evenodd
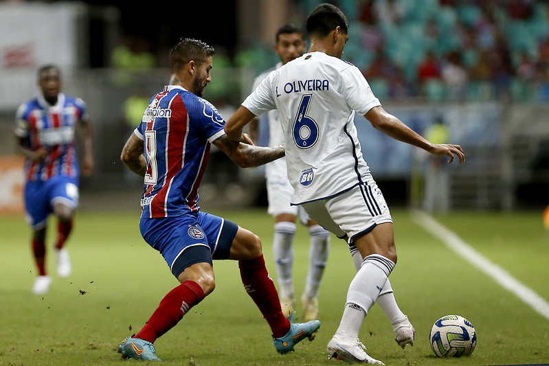
<svg viewBox="0 0 549 366">
<path fill-rule="evenodd" d="M 309 13 L 306 25 L 309 36 L 325 37 L 338 26 L 345 33 L 349 30 L 349 22 L 345 14 L 337 6 L 328 3 L 318 5 Z"/>
</svg>

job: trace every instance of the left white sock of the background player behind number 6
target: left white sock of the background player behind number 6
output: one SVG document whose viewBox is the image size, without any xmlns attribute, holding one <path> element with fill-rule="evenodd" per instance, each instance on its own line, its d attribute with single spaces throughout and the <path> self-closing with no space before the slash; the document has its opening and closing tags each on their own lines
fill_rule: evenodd
<svg viewBox="0 0 549 366">
<path fill-rule="evenodd" d="M 289 221 L 276 222 L 274 225 L 273 255 L 278 276 L 280 298 L 293 297 L 293 237 L 295 223 Z"/>
</svg>

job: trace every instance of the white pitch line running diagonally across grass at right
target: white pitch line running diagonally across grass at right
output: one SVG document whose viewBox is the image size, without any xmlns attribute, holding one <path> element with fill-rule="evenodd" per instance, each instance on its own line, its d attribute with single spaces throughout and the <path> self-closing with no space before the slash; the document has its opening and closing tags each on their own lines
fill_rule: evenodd
<svg viewBox="0 0 549 366">
<path fill-rule="evenodd" d="M 467 242 L 464 242 L 453 231 L 441 225 L 432 216 L 423 211 L 412 211 L 412 220 L 416 221 L 423 229 L 429 231 L 433 236 L 444 242 L 450 249 L 462 256 L 464 260 L 473 264 L 480 271 L 489 275 L 495 282 L 503 288 L 516 295 L 519 299 L 531 306 L 542 317 L 549 320 L 548 302 L 534 290 L 519 282 L 500 266 L 493 264 L 482 254 L 475 251 Z"/>
</svg>

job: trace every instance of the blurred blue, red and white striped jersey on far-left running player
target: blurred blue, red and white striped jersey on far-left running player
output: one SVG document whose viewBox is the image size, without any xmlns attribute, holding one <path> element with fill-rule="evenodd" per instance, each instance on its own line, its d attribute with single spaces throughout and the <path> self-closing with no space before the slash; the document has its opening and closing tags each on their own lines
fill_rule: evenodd
<svg viewBox="0 0 549 366">
<path fill-rule="evenodd" d="M 39 95 L 21 104 L 16 113 L 15 134 L 29 139 L 29 148 L 44 147 L 45 161 L 25 161 L 27 181 L 47 181 L 52 176 L 77 177 L 78 159 L 75 129 L 78 122 L 88 123 L 87 106 L 80 98 L 59 93 L 52 106 Z"/>
</svg>

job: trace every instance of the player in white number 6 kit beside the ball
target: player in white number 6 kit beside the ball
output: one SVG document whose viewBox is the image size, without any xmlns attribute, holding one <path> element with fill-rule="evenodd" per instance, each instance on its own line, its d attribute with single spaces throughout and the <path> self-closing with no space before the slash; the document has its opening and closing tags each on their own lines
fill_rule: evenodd
<svg viewBox="0 0 549 366">
<path fill-rule="evenodd" d="M 309 52 L 269 74 L 229 119 L 225 132 L 238 141 L 251 119 L 277 109 L 295 189 L 292 203 L 302 205 L 319 225 L 346 238 L 360 254 L 360 268 L 350 283 L 339 328 L 328 343 L 328 356 L 383 364 L 366 354 L 358 335 L 374 302 L 392 296 L 392 289 L 386 291 L 396 249 L 390 211 L 362 156 L 355 113 L 385 135 L 449 157 L 448 163 L 453 155 L 460 163 L 465 157 L 460 146 L 432 144 L 386 112 L 359 69 L 341 60 L 348 21 L 339 8 L 318 5 L 306 25 Z M 399 345 L 413 343 L 407 318 L 392 326 Z"/>
</svg>

